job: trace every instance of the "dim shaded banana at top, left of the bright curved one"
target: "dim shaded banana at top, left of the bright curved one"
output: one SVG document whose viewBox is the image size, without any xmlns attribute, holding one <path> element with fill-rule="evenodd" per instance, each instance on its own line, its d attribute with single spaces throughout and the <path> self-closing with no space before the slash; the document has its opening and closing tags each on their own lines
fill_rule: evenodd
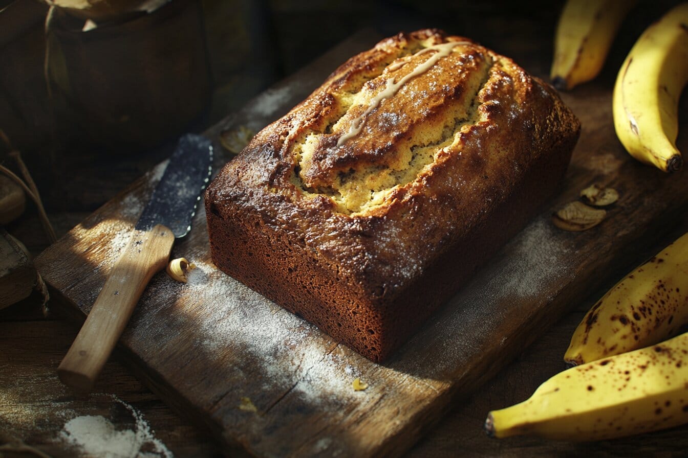
<svg viewBox="0 0 688 458">
<path fill-rule="evenodd" d="M 635 1 L 568 0 L 555 35 L 550 78 L 557 89 L 572 89 L 597 76 L 621 21 Z"/>
</svg>

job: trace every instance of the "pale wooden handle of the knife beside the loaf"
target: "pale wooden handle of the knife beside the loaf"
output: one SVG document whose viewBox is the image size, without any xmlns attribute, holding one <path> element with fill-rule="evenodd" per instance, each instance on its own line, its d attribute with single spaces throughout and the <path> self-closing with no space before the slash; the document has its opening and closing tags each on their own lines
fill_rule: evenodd
<svg viewBox="0 0 688 458">
<path fill-rule="evenodd" d="M 133 234 L 57 369 L 65 385 L 92 389 L 151 277 L 169 261 L 173 243 L 174 234 L 163 225 Z"/>
</svg>

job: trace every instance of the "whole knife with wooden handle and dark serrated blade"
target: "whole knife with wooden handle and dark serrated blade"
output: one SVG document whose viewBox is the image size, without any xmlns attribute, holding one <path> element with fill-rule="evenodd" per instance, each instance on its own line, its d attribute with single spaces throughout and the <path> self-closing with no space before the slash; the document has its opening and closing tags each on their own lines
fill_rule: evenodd
<svg viewBox="0 0 688 458">
<path fill-rule="evenodd" d="M 65 385 L 89 391 L 124 331 L 150 279 L 169 262 L 175 238 L 186 235 L 213 162 L 211 142 L 185 135 L 144 207 L 132 238 L 112 266 L 103 289 L 63 358 Z"/>
</svg>

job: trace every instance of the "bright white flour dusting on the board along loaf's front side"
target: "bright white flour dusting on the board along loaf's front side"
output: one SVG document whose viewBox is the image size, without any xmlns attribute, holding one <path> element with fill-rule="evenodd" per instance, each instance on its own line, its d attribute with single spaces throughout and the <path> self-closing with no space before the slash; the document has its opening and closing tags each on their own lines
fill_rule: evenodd
<svg viewBox="0 0 688 458">
<path fill-rule="evenodd" d="M 265 389 L 293 385 L 295 377 L 297 383 L 292 389 L 305 398 L 355 396 L 350 385 L 357 371 L 334 354 L 336 344 L 325 334 L 213 264 L 195 264 L 185 285 L 191 291 L 186 294 L 197 297 L 199 303 L 215 304 L 204 308 L 202 316 L 195 319 L 202 335 L 200 343 L 208 354 L 243 347 L 259 363 L 264 378 L 256 382 Z M 251 320 L 244 319 L 248 308 Z"/>
</svg>

